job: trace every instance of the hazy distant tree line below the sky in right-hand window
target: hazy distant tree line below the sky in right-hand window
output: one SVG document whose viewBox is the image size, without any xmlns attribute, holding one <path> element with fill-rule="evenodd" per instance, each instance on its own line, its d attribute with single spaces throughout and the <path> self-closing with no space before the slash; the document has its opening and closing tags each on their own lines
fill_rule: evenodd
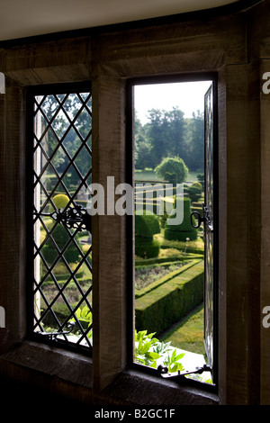
<svg viewBox="0 0 270 423">
<path fill-rule="evenodd" d="M 135 119 L 135 167 L 154 169 L 165 157 L 181 157 L 189 170 L 204 166 L 203 113 L 193 112 L 184 118 L 184 112 L 174 107 L 171 111 L 151 109 L 148 122 Z"/>
</svg>

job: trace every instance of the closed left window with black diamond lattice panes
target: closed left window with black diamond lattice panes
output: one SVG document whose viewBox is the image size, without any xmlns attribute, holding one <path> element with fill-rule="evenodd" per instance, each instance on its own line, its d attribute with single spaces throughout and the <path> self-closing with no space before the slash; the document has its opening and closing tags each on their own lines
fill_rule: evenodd
<svg viewBox="0 0 270 423">
<path fill-rule="evenodd" d="M 29 333 L 91 354 L 91 85 L 34 88 L 28 105 Z"/>
</svg>

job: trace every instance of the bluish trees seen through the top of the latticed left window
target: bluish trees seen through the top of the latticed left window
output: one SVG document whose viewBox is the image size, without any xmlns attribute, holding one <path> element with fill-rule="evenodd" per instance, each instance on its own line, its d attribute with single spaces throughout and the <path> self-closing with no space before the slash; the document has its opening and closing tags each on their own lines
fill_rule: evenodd
<svg viewBox="0 0 270 423">
<path fill-rule="evenodd" d="M 70 184 L 79 184 L 81 175 L 85 177 L 92 165 L 90 149 L 82 146 L 82 139 L 86 140 L 89 148 L 92 143 L 91 94 L 45 95 L 40 109 L 46 116 L 46 119 L 43 115 L 41 117 L 42 130 L 46 130 L 43 148 L 58 175 L 62 175 L 69 166 L 69 157 L 74 158 L 74 165 L 68 167 L 68 175 L 65 175 L 63 182 L 67 188 Z"/>
</svg>

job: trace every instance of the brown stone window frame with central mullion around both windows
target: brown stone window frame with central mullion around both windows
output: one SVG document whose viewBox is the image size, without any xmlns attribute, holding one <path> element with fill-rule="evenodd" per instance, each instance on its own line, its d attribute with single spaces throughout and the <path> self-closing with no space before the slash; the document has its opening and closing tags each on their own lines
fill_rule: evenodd
<svg viewBox="0 0 270 423">
<path fill-rule="evenodd" d="M 230 37 L 228 37 L 228 23 Z M 230 39 L 234 38 L 233 45 Z M 0 372 L 6 380 L 14 374 L 16 383 L 31 387 L 42 384 L 53 392 L 80 401 L 106 401 L 113 398 L 122 403 L 158 404 L 209 403 L 227 401 L 228 384 L 234 386 L 236 374 L 229 374 L 228 356 L 234 351 L 227 346 L 227 295 L 230 267 L 227 265 L 227 154 L 233 157 L 232 128 L 228 121 L 234 112 L 235 83 L 238 80 L 240 99 L 247 99 L 246 15 L 233 14 L 203 20 L 183 20 L 150 24 L 143 31 L 135 27 L 86 31 L 83 34 L 54 34 L 34 40 L 13 41 L 0 50 L 1 71 L 6 76 L 6 93 L 0 99 L 0 135 L 4 139 L 6 159 L 4 187 L 6 206 L 4 236 L 18 242 L 20 248 L 6 248 L 4 290 L 0 301 L 6 311 L 6 327 L 1 345 Z M 63 352 L 29 342 L 26 335 L 26 278 L 24 203 L 27 86 L 79 82 L 91 79 L 93 89 L 93 180 L 105 186 L 106 175 L 114 175 L 115 184 L 125 180 L 125 84 L 139 76 L 179 75 L 215 71 L 219 80 L 219 143 L 220 143 L 220 303 L 219 326 L 219 392 L 213 394 L 198 387 L 164 383 L 152 375 L 133 371 L 128 366 L 127 295 L 126 295 L 126 225 L 119 216 L 94 217 L 94 356 Z M 254 69 L 252 71 L 256 72 Z M 231 101 L 231 103 L 228 103 Z M 242 128 L 242 127 L 241 127 Z M 242 129 L 242 134 L 245 130 Z M 108 144 L 109 142 L 109 144 Z M 238 139 L 238 144 L 242 138 Z M 244 141 L 243 141 L 244 142 Z M 9 154 L 6 153 L 8 151 Z M 232 197 L 232 194 L 231 194 Z M 232 198 L 229 201 L 232 202 Z M 14 203 L 20 208 L 14 211 Z M 231 221 L 231 220 L 230 220 Z M 232 230 L 230 228 L 230 230 Z M 113 237 L 108 238 L 108 232 Z M 106 239 L 106 243 L 99 242 Z M 231 259 L 231 257 L 229 257 Z M 10 262 L 8 261 L 10 260 Z M 11 263 L 9 265 L 8 263 Z M 112 265 L 114 273 L 112 274 Z M 12 280 L 6 275 L 12 274 Z M 12 294 L 11 294 L 12 293 Z M 113 299 L 113 301 L 112 301 Z M 227 299 L 228 300 L 228 299 Z M 229 301 L 232 300 L 229 298 Z M 228 309 L 229 310 L 229 309 Z M 112 330 L 113 329 L 113 330 Z M 244 337 L 244 334 L 243 334 Z M 243 359 L 246 350 L 243 344 Z M 44 360 L 44 355 L 51 357 Z M 72 365 L 71 365 L 72 364 Z M 73 371 L 70 368 L 73 367 Z M 235 370 L 236 370 L 236 366 Z M 58 369 L 56 372 L 55 369 Z M 240 372 L 239 372 L 240 373 Z M 37 381 L 37 374 L 39 375 Z M 240 401 L 246 398 L 247 382 L 238 390 Z M 140 389 L 148 392 L 140 397 Z M 139 389 L 140 387 L 140 389 Z M 232 398 L 233 389 L 230 393 Z M 244 400 L 243 400 L 244 401 Z"/>
</svg>

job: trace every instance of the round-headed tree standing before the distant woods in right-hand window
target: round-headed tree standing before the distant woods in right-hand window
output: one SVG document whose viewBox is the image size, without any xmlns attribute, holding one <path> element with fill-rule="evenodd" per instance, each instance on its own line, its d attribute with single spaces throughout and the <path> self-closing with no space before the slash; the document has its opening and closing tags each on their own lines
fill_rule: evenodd
<svg viewBox="0 0 270 423">
<path fill-rule="evenodd" d="M 169 184 L 182 184 L 188 174 L 188 167 L 180 157 L 166 157 L 155 168 L 155 172 Z"/>
</svg>

